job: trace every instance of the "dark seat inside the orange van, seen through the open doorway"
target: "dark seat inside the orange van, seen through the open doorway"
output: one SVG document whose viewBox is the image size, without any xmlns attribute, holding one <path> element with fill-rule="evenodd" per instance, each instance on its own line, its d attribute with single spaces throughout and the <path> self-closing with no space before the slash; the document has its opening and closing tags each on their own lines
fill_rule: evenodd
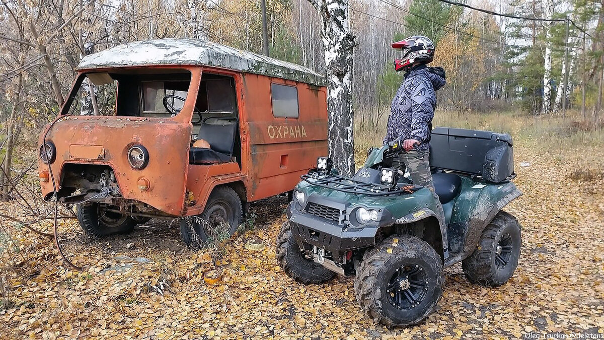
<svg viewBox="0 0 604 340">
<path fill-rule="evenodd" d="M 210 144 L 207 148 L 190 148 L 190 164 L 214 164 L 230 162 L 233 157 L 237 119 L 230 117 L 206 117 L 199 126 L 199 138 Z"/>
</svg>

